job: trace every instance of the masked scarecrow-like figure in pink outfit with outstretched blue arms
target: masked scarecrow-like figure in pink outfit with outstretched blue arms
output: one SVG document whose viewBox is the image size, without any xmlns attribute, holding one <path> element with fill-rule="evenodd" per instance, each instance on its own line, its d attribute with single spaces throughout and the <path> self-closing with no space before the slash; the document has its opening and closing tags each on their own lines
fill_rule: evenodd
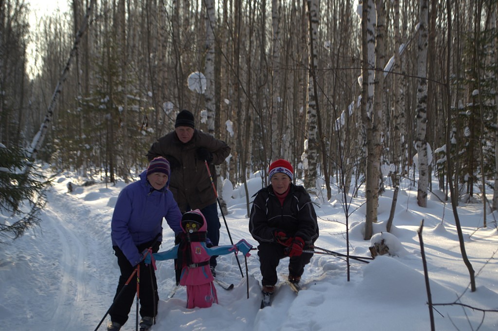
<svg viewBox="0 0 498 331">
<path fill-rule="evenodd" d="M 214 277 L 209 268 L 209 260 L 213 255 L 227 255 L 241 251 L 249 256 L 252 248 L 246 240 L 241 239 L 235 245 L 208 247 L 206 244 L 206 219 L 199 209 L 183 214 L 181 220 L 183 233 L 180 243 L 173 248 L 150 254 L 145 258 L 146 264 L 154 264 L 153 260 L 178 259 L 181 266 L 180 285 L 187 287 L 187 308 L 208 308 L 218 303 Z"/>
</svg>

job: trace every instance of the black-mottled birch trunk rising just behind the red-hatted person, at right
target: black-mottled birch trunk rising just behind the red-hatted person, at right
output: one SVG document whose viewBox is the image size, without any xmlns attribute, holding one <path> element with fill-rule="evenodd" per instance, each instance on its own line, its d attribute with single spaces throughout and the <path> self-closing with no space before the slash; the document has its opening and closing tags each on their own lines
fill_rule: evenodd
<svg viewBox="0 0 498 331">
<path fill-rule="evenodd" d="M 317 27 L 318 27 L 318 0 L 308 0 L 308 17 L 310 19 L 309 26 L 309 43 L 316 43 Z M 317 96 L 315 95 L 315 82 L 313 72 L 317 65 L 317 51 L 310 47 L 310 62 L 308 69 L 308 169 L 305 172 L 304 183 L 310 193 L 318 195 L 317 186 Z"/>
</svg>

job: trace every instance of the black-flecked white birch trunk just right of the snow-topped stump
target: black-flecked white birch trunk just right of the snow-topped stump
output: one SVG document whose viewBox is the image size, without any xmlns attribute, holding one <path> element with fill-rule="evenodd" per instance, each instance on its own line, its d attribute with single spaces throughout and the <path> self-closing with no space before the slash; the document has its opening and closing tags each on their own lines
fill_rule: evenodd
<svg viewBox="0 0 498 331">
<path fill-rule="evenodd" d="M 427 158 L 427 43 L 428 43 L 428 0 L 420 0 L 418 54 L 417 54 L 417 114 L 415 147 L 418 155 L 417 203 L 427 207 L 429 186 L 429 165 Z"/>
</svg>

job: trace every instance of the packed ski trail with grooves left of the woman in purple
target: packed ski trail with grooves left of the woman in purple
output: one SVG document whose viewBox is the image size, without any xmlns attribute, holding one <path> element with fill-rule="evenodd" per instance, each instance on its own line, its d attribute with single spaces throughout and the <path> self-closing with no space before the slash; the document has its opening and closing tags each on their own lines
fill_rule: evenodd
<svg viewBox="0 0 498 331">
<path fill-rule="evenodd" d="M 26 267 L 39 275 L 37 280 L 26 279 L 33 296 L 19 303 L 30 307 L 22 330 L 51 330 L 53 326 L 57 330 L 94 330 L 112 303 L 119 277 L 116 268 L 109 268 L 114 262 L 110 241 L 99 240 L 110 237 L 109 219 L 103 219 L 106 217 L 98 208 L 71 193 L 57 192 L 55 187 L 48 190 L 47 199 L 40 227 L 11 247 L 18 251 L 15 259 L 27 261 Z M 84 226 L 89 218 L 95 220 L 95 227 Z M 99 255 L 101 260 L 95 258 Z M 104 295 L 99 294 L 102 291 Z M 95 311 L 102 316 L 95 316 Z M 18 321 L 6 323 L 7 329 L 19 330 L 15 329 Z"/>
</svg>

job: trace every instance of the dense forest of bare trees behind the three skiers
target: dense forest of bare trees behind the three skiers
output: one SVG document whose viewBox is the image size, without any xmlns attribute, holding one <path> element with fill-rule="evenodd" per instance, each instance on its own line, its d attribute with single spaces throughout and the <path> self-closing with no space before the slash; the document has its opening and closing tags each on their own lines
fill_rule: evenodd
<svg viewBox="0 0 498 331">
<path fill-rule="evenodd" d="M 7 149 L 29 148 L 48 113 L 39 160 L 127 180 L 188 109 L 232 147 L 220 171 L 234 183 L 285 158 L 311 193 L 365 185 L 371 220 L 415 171 L 422 206 L 437 176 L 498 208 L 497 0 L 68 2 L 32 35 L 28 1 L 0 0 Z"/>
</svg>

